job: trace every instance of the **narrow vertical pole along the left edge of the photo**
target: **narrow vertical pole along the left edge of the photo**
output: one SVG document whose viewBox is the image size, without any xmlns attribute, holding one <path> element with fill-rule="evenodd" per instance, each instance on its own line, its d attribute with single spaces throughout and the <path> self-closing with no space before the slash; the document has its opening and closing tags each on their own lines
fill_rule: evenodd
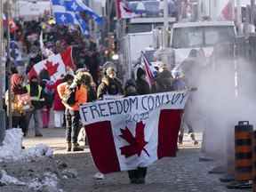
<svg viewBox="0 0 256 192">
<path fill-rule="evenodd" d="M 3 0 L 0 0 L 0 146 L 4 140 L 5 133 L 5 111 L 3 108 L 3 100 L 4 100 L 4 19 L 3 15 Z"/>
</svg>

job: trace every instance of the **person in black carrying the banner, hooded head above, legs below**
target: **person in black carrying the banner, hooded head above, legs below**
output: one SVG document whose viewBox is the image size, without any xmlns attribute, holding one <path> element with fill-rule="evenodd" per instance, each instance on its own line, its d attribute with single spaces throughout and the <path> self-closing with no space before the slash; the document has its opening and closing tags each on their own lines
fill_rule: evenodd
<svg viewBox="0 0 256 192">
<path fill-rule="evenodd" d="M 136 84 L 132 79 L 130 79 L 126 82 L 124 86 L 124 97 L 135 96 L 135 95 L 138 95 L 138 92 L 136 90 Z M 128 171 L 128 176 L 132 184 L 144 184 L 146 174 L 147 174 L 147 167 L 137 167 L 136 170 Z"/>
</svg>

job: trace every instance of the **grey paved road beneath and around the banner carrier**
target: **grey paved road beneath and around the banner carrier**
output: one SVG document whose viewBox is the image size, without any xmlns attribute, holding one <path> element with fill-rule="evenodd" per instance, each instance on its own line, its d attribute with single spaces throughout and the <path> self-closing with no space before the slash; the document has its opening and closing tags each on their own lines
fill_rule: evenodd
<svg viewBox="0 0 256 192">
<path fill-rule="evenodd" d="M 92 163 L 89 149 L 82 153 L 65 153 L 64 130 L 44 130 L 44 137 L 25 139 L 25 146 L 32 146 L 44 142 L 55 149 L 55 160 L 68 164 L 68 167 L 78 171 L 78 178 L 60 180 L 61 188 L 66 192 L 241 192 L 242 190 L 228 190 L 220 183 L 220 175 L 209 174 L 208 171 L 216 165 L 214 162 L 199 162 L 200 149 L 185 137 L 185 145 L 175 158 L 164 158 L 149 166 L 147 184 L 131 185 L 126 172 L 116 172 L 106 175 L 105 180 L 93 180 L 97 169 Z M 201 134 L 197 134 L 201 139 Z M 248 190 L 244 190 L 248 191 Z"/>
</svg>

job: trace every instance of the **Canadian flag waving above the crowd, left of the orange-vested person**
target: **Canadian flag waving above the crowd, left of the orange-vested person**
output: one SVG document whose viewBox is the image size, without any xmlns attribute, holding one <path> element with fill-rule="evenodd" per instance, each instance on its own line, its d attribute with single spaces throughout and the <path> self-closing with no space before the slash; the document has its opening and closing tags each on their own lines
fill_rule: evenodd
<svg viewBox="0 0 256 192">
<path fill-rule="evenodd" d="M 75 69 L 72 58 L 72 47 L 59 54 L 50 56 L 47 60 L 42 60 L 34 65 L 28 72 L 28 78 L 39 76 L 43 70 L 48 71 L 52 82 L 60 79 L 60 76 L 66 75 L 68 70 Z"/>
</svg>

